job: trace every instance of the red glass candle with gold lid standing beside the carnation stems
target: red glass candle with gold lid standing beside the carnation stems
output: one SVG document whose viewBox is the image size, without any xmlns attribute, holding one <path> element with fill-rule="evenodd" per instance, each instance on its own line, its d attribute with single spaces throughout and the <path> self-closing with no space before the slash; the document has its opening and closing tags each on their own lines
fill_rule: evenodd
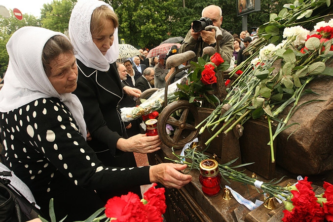
<svg viewBox="0 0 333 222">
<path fill-rule="evenodd" d="M 216 196 L 221 187 L 221 174 L 219 172 L 219 163 L 213 159 L 203 160 L 200 163 L 199 181 L 202 185 L 202 192 L 207 196 Z"/>
</svg>

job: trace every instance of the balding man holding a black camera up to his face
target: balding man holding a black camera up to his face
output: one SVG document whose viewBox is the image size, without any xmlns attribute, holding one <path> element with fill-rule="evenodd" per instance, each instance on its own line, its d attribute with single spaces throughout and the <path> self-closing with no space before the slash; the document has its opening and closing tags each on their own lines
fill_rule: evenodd
<svg viewBox="0 0 333 222">
<path fill-rule="evenodd" d="M 199 22 L 200 21 L 200 22 Z M 221 28 L 222 25 L 222 9 L 217 5 L 209 5 L 202 10 L 202 18 L 199 21 L 193 21 L 195 24 L 203 24 L 203 26 L 214 25 L 220 28 L 222 31 L 222 40 L 220 40 L 220 54 L 221 57 L 230 63 L 233 52 L 233 37 L 232 35 Z M 196 58 L 202 56 L 202 49 L 207 46 L 216 47 L 215 30 L 205 31 L 202 26 L 200 28 L 194 27 L 193 23 L 191 30 L 188 31 L 182 46 L 180 47 L 180 53 L 192 50 L 196 53 Z M 200 25 L 199 25 L 200 26 Z"/>
</svg>

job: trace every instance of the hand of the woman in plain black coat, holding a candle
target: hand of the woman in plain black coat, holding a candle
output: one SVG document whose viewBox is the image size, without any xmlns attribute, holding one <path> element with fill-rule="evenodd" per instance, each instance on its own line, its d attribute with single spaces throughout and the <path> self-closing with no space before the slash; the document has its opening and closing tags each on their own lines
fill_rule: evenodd
<svg viewBox="0 0 333 222">
<path fill-rule="evenodd" d="M 128 139 L 118 139 L 117 148 L 124 152 L 152 153 L 161 148 L 159 147 L 161 143 L 158 135 L 137 134 Z"/>
</svg>

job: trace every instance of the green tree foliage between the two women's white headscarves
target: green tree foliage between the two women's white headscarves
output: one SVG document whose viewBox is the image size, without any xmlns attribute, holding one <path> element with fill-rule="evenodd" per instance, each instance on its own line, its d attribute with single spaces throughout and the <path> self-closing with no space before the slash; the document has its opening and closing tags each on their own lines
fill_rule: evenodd
<svg viewBox="0 0 333 222">
<path fill-rule="evenodd" d="M 64 33 L 68 30 L 71 12 L 76 0 L 53 0 L 41 9 L 41 27 Z"/>
</svg>

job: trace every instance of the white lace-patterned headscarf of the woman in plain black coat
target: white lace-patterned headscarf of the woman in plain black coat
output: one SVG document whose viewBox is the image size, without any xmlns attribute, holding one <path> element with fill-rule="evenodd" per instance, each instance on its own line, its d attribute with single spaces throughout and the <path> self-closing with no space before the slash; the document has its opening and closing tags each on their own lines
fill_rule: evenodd
<svg viewBox="0 0 333 222">
<path fill-rule="evenodd" d="M 90 21 L 93 11 L 101 5 L 107 5 L 100 0 L 78 0 L 73 8 L 69 23 L 69 34 L 77 51 L 75 55 L 85 66 L 100 71 L 108 71 L 110 63 L 115 62 L 119 55 L 118 28 L 114 30 L 114 40 L 106 55 L 103 55 L 98 47 L 93 43 L 90 32 Z"/>
</svg>

